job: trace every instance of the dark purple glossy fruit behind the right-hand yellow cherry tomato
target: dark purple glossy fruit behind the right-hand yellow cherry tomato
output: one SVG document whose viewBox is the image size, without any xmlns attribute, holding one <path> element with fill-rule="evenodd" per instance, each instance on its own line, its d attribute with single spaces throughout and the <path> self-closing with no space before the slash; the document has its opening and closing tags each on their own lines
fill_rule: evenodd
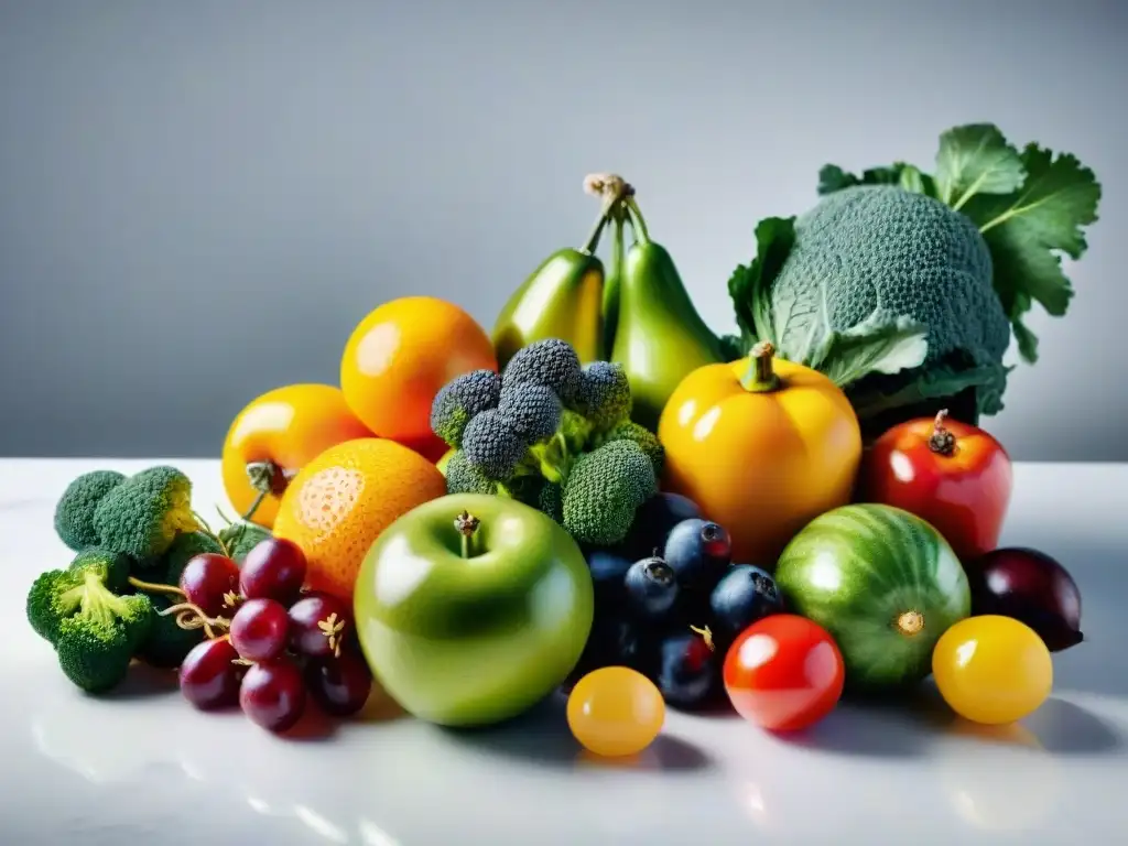
<svg viewBox="0 0 1128 846">
<path fill-rule="evenodd" d="M 1085 640 L 1081 631 L 1081 589 L 1061 564 L 1026 547 L 993 549 L 963 565 L 971 584 L 971 613 L 1025 623 L 1050 652 Z"/>
</svg>

